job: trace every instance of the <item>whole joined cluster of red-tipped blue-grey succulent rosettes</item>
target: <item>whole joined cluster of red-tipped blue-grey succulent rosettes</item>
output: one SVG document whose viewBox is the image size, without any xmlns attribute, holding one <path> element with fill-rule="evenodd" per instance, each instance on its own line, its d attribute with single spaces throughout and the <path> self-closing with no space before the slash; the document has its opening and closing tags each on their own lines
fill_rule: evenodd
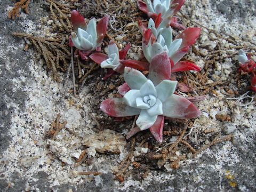
<svg viewBox="0 0 256 192">
<path fill-rule="evenodd" d="M 142 51 L 146 61 L 125 59 L 130 43 L 119 51 L 116 43 L 110 41 L 107 54 L 100 52 L 101 43 L 107 30 L 109 17 L 102 18 L 96 25 L 91 19 L 88 25 L 77 11 L 71 13 L 75 32 L 71 34 L 70 46 L 75 46 L 82 59 L 90 57 L 108 73 L 123 73 L 125 83 L 118 87 L 120 98 L 109 98 L 101 103 L 100 109 L 112 117 L 138 115 L 136 125 L 127 139 L 139 131 L 149 129 L 158 142 L 163 141 L 164 117 L 195 118 L 201 115 L 196 106 L 175 89 L 177 81 L 171 73 L 186 70 L 200 71 L 195 63 L 180 59 L 188 52 L 201 33 L 200 28 L 185 29 L 172 16 L 177 13 L 185 0 L 138 0 L 139 9 L 150 17 L 147 25 L 138 22 L 142 33 Z M 172 27 L 185 29 L 173 39 Z M 94 52 L 94 53 L 92 53 Z M 92 54 L 91 54 L 92 53 Z M 148 71 L 147 77 L 141 71 Z M 199 101 L 204 97 L 192 98 Z"/>
</svg>

